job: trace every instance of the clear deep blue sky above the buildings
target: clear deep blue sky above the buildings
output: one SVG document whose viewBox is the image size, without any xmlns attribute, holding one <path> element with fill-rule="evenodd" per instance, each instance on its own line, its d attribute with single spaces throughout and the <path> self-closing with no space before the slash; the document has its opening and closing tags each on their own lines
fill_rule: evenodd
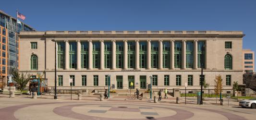
<svg viewBox="0 0 256 120">
<path fill-rule="evenodd" d="M 1 0 L 47 30 L 234 30 L 256 51 L 256 0 Z"/>
</svg>

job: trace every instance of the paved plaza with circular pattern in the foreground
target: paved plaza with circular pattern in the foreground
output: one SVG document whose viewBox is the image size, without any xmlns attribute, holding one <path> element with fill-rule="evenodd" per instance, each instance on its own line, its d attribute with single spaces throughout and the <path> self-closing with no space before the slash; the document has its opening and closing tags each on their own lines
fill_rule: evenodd
<svg viewBox="0 0 256 120">
<path fill-rule="evenodd" d="M 37 99 L 31 96 L 0 95 L 0 120 L 255 120 L 256 109 L 240 108 L 238 102 L 230 99 L 224 106 L 215 105 L 215 98 L 206 98 L 204 105 L 196 105 L 195 97 L 152 100 L 133 100 L 129 96 L 113 96 L 99 101 L 99 96 L 43 95 Z M 219 101 L 218 101 L 219 103 Z"/>
</svg>

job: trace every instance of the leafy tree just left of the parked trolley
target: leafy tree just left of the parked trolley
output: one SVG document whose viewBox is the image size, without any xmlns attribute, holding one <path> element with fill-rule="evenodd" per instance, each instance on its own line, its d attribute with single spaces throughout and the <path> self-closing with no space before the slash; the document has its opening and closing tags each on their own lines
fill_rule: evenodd
<svg viewBox="0 0 256 120">
<path fill-rule="evenodd" d="M 12 72 L 12 76 L 13 76 L 13 81 L 15 81 L 18 90 L 20 90 L 22 92 L 25 89 L 26 84 L 28 83 L 31 75 L 27 74 L 27 73 L 26 74 L 19 73 L 18 70 L 14 70 Z"/>
</svg>

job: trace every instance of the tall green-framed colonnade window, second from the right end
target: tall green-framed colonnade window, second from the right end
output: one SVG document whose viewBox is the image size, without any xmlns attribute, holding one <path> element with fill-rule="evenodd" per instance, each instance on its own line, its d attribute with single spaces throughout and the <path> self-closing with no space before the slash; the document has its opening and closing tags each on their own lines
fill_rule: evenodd
<svg viewBox="0 0 256 120">
<path fill-rule="evenodd" d="M 186 68 L 193 68 L 193 42 L 186 42 Z"/>
</svg>

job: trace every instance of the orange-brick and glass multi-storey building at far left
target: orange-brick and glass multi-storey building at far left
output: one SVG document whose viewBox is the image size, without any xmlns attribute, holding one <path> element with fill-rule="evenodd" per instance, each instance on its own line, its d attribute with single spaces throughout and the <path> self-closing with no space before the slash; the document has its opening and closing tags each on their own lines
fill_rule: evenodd
<svg viewBox="0 0 256 120">
<path fill-rule="evenodd" d="M 24 23 L 18 24 L 17 28 L 18 34 L 21 31 L 35 31 Z M 13 69 L 19 68 L 18 51 L 19 40 L 16 40 L 16 18 L 0 11 L 0 71 L 2 71 L 6 80 Z"/>
</svg>

